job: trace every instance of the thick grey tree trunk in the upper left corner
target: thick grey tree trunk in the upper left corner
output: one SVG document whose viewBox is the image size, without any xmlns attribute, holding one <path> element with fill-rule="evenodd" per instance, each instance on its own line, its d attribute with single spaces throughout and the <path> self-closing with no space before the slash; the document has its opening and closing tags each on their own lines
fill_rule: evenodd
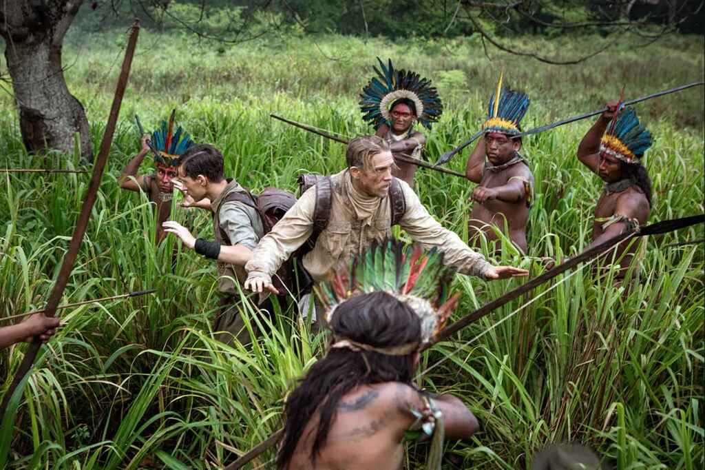
<svg viewBox="0 0 705 470">
<path fill-rule="evenodd" d="M 88 120 L 63 78 L 61 46 L 82 0 L 3 1 L 0 35 L 29 152 L 73 152 L 80 133 L 80 153 L 92 159 Z"/>
</svg>

